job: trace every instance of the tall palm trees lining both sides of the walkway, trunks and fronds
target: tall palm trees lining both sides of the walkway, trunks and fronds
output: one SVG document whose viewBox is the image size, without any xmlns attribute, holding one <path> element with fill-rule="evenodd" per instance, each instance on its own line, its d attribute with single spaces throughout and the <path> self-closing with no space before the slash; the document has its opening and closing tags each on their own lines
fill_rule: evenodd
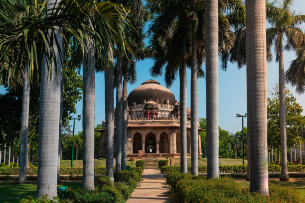
<svg viewBox="0 0 305 203">
<path fill-rule="evenodd" d="M 78 44 L 79 55 L 76 58 L 83 58 L 83 188 L 94 189 L 95 71 L 105 73 L 106 174 L 113 178 L 113 70 L 116 67 L 116 170 L 121 171 L 126 167 L 126 84 L 128 81 L 133 81 L 134 76 L 130 73 L 134 72 L 135 61 L 144 57 L 152 57 L 155 61 L 151 69 L 153 76 L 162 74 L 162 68 L 165 66 L 164 79 L 167 86 L 171 85 L 177 72 L 179 73 L 180 170 L 183 173 L 187 172 L 186 66 L 191 67 L 191 119 L 193 120 L 191 122 L 191 147 L 194 149 L 191 150 L 191 164 L 193 175 L 198 174 L 198 151 L 195 150 L 198 144 L 197 130 L 195 130 L 197 122 L 194 122 L 198 119 L 197 78 L 203 76 L 199 67 L 205 60 L 208 178 L 218 178 L 218 56 L 220 55 L 223 68 L 226 68 L 228 60 L 237 61 L 239 66 L 247 65 L 248 144 L 250 146 L 248 156 L 251 154 L 248 162 L 251 163 L 251 167 L 249 167 L 250 189 L 260 192 L 262 195 L 269 194 L 267 56 L 269 56 L 270 44 L 274 41 L 272 39 L 282 40 L 283 38 L 281 33 L 274 34 L 273 38 L 267 38 L 265 30 L 266 10 L 267 14 L 274 13 L 275 19 L 283 15 L 276 6 L 267 4 L 266 9 L 265 0 L 246 0 L 245 5 L 239 0 L 148 0 L 148 8 L 155 17 L 149 28 L 149 33 L 152 35 L 150 42 L 152 52 L 146 52 L 143 43 L 143 25 L 149 19 L 149 15 L 141 0 L 119 1 L 132 8 L 131 12 L 126 7 L 109 1 L 96 3 L 90 0 L 78 2 L 51 0 L 48 3 L 35 1 L 35 4 L 30 6 L 31 13 L 27 13 L 24 11 L 27 6 L 26 2 L 18 2 L 19 4 L 16 3 L 17 6 L 14 7 L 10 7 L 7 2 L 10 3 L 9 0 L 1 2 L 8 8 L 5 12 L 1 11 L 2 14 L 18 17 L 1 19 L 0 81 L 14 83 L 21 78 L 24 84 L 20 183 L 26 181 L 26 165 L 24 166 L 23 161 L 21 162 L 21 158 L 24 159 L 25 154 L 26 160 L 24 143 L 27 142 L 28 110 L 26 111 L 26 109 L 28 107 L 26 106 L 29 102 L 27 87 L 31 75 L 33 75 L 32 72 L 37 70 L 41 73 L 38 197 L 44 194 L 48 194 L 49 197 L 56 196 L 59 162 L 56 154 L 59 152 L 60 133 L 58 132 L 60 131 L 60 98 L 63 80 L 61 67 L 62 54 L 66 51 L 63 49 L 63 45 L 67 43 L 68 36 L 73 37 L 75 39 L 73 43 Z M 289 4 L 289 2 L 290 0 L 284 0 L 284 4 Z M 44 11 L 44 7 L 47 8 L 46 11 Z M 19 10 L 16 11 L 17 8 Z M 22 13 L 22 15 L 16 15 L 16 12 Z M 24 19 L 30 23 L 26 24 Z M 270 21 L 272 22 L 272 20 Z M 279 21 L 281 20 L 279 19 Z M 293 26 L 301 22 L 303 22 L 302 18 L 298 17 Z M 274 22 L 274 25 L 278 26 L 278 24 L 277 21 Z M 247 29 L 245 29 L 245 25 L 247 25 Z M 231 31 L 231 26 L 235 26 L 235 33 Z M 277 38 L 277 36 L 279 37 Z M 141 40 L 136 41 L 135 39 Z M 303 38 L 300 39 L 302 42 Z M 242 41 L 246 42 L 246 48 Z M 278 43 L 280 41 L 277 41 L 276 44 L 278 45 Z M 290 44 L 297 49 L 299 44 L 294 43 Z M 294 48 L 292 45 L 290 48 Z M 114 58 L 116 58 L 116 64 L 114 64 Z M 279 58 L 281 58 L 280 55 Z M 78 60 L 75 61 L 79 63 Z M 283 137 L 285 138 L 285 136 Z M 285 144 L 285 140 L 283 142 Z M 285 170 L 282 171 L 286 173 Z"/>
</svg>

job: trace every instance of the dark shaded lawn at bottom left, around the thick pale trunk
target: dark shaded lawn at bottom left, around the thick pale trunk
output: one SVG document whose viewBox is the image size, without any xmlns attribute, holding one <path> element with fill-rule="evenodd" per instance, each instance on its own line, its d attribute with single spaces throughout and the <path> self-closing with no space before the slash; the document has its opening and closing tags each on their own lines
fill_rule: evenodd
<svg viewBox="0 0 305 203">
<path fill-rule="evenodd" d="M 82 182 L 64 182 L 57 187 L 70 187 L 77 189 L 82 187 Z M 0 182 L 0 202 L 1 203 L 19 203 L 21 199 L 36 195 L 36 182 L 17 184 L 15 181 Z"/>
</svg>

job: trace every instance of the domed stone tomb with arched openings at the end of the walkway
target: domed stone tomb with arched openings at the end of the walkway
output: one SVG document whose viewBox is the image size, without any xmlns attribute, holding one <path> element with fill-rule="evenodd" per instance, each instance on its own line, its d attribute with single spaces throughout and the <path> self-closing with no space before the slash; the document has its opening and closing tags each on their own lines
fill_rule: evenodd
<svg viewBox="0 0 305 203">
<path fill-rule="evenodd" d="M 148 80 L 128 96 L 127 157 L 180 157 L 179 102 L 167 88 Z M 100 157 L 106 157 L 105 122 Z M 187 156 L 190 156 L 190 108 L 187 108 Z M 198 122 L 198 157 L 201 154 Z"/>
</svg>

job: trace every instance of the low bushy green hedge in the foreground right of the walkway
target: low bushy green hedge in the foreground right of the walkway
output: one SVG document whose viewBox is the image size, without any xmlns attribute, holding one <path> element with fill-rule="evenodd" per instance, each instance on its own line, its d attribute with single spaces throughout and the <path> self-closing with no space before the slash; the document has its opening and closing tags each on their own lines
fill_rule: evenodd
<svg viewBox="0 0 305 203">
<path fill-rule="evenodd" d="M 173 203 L 302 203 L 296 190 L 269 185 L 270 196 L 242 188 L 229 177 L 206 180 L 178 172 L 166 176 L 169 198 Z"/>
</svg>

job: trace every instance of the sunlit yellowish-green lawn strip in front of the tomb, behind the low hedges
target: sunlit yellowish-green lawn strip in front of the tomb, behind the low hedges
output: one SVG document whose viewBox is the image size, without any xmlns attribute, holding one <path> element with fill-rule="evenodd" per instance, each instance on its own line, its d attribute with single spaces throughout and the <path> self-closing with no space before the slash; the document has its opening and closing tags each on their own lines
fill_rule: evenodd
<svg viewBox="0 0 305 203">
<path fill-rule="evenodd" d="M 165 158 L 161 158 L 165 159 Z M 134 161 L 127 161 L 126 165 L 127 166 L 135 166 L 136 161 L 139 159 L 134 159 Z M 116 159 L 114 159 L 114 164 L 116 164 Z M 168 160 L 169 164 L 169 160 Z M 242 159 L 219 159 L 219 165 L 242 165 L 243 160 Z M 245 164 L 247 164 L 247 160 L 245 160 Z M 171 161 L 172 166 L 180 166 L 180 158 L 173 158 Z M 191 159 L 187 159 L 187 165 L 191 165 Z M 201 158 L 198 159 L 198 166 L 206 166 L 207 165 L 207 159 L 206 158 Z M 61 160 L 60 161 L 60 166 L 61 167 L 70 167 L 71 166 L 71 160 Z M 94 166 L 95 167 L 106 167 L 106 159 L 100 160 L 100 159 L 95 159 L 94 160 Z M 73 160 L 73 167 L 83 167 L 83 160 Z"/>
</svg>

